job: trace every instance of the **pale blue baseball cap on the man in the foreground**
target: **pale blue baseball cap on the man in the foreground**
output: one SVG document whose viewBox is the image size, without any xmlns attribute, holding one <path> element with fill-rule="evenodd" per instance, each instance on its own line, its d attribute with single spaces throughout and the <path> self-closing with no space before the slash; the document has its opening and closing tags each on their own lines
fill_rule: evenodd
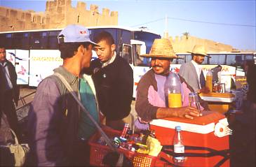
<svg viewBox="0 0 256 167">
<path fill-rule="evenodd" d="M 89 30 L 78 24 L 70 24 L 65 29 L 60 31 L 58 35 L 58 43 L 92 43 L 97 45 L 93 41 L 90 41 Z"/>
</svg>

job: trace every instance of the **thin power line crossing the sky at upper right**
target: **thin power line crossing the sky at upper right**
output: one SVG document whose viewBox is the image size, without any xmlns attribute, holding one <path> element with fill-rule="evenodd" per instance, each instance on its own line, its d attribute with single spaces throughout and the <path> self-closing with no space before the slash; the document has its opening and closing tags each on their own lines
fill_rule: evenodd
<svg viewBox="0 0 256 167">
<path fill-rule="evenodd" d="M 158 22 L 160 20 L 164 20 L 165 18 L 160 18 L 158 20 L 153 20 L 151 22 L 144 22 L 142 24 L 137 24 L 137 25 L 134 25 L 132 27 L 137 27 L 137 26 L 141 26 L 141 25 L 144 25 L 144 24 L 149 24 L 149 23 L 152 23 L 152 22 Z M 248 25 L 248 24 L 229 24 L 229 23 L 223 23 L 223 22 L 203 22 L 203 21 L 198 21 L 198 20 L 189 20 L 189 19 L 182 19 L 182 18 L 177 18 L 177 17 L 168 17 L 168 20 L 169 19 L 172 19 L 172 20 L 182 20 L 182 21 L 185 21 L 185 22 L 199 22 L 199 23 L 204 23 L 204 24 L 218 24 L 218 25 L 226 25 L 226 26 L 241 26 L 241 27 L 256 27 L 256 25 Z"/>
</svg>

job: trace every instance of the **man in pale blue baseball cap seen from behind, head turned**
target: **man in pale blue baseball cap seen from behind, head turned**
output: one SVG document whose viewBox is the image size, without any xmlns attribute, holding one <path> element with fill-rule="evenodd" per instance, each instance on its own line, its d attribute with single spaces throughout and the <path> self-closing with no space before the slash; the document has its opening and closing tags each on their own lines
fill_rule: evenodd
<svg viewBox="0 0 256 167">
<path fill-rule="evenodd" d="M 76 24 L 65 27 L 58 36 L 63 64 L 55 68 L 53 75 L 41 81 L 29 108 L 28 136 L 32 155 L 29 165 L 76 166 L 81 154 L 77 150 L 79 139 L 86 140 L 94 133 L 90 124 L 85 122 L 88 119 L 84 119 L 85 115 L 58 77 L 62 75 L 65 78 L 72 92 L 81 97 L 83 106 L 90 104 L 86 108 L 99 122 L 92 87 L 81 76 L 82 69 L 90 66 L 92 48 L 97 45 L 90 41 L 89 36 L 86 27 Z"/>
</svg>

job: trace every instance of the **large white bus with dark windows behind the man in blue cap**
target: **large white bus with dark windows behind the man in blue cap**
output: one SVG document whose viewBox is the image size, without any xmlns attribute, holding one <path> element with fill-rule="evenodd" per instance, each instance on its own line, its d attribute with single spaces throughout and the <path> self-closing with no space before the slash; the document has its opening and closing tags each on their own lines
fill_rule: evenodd
<svg viewBox="0 0 256 167">
<path fill-rule="evenodd" d="M 100 31 L 108 31 L 114 37 L 117 55 L 128 61 L 133 68 L 134 89 L 141 76 L 149 69 L 150 59 L 140 55 L 149 53 L 155 38 L 159 34 L 145 29 L 104 26 L 87 27 L 90 38 Z M 37 87 L 39 82 L 53 73 L 53 69 L 62 64 L 58 50 L 58 34 L 62 29 L 40 29 L 31 31 L 0 32 L 0 45 L 6 48 L 6 57 L 15 65 L 18 73 L 18 85 Z M 97 55 L 93 51 L 93 59 Z"/>
</svg>

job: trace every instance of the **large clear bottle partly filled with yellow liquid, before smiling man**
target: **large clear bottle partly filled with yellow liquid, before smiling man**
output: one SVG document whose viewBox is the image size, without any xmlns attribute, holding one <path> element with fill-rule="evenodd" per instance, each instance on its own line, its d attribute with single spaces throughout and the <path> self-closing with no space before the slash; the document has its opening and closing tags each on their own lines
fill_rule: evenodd
<svg viewBox="0 0 256 167">
<path fill-rule="evenodd" d="M 181 83 L 177 73 L 170 72 L 165 84 L 169 108 L 182 107 Z"/>
</svg>

